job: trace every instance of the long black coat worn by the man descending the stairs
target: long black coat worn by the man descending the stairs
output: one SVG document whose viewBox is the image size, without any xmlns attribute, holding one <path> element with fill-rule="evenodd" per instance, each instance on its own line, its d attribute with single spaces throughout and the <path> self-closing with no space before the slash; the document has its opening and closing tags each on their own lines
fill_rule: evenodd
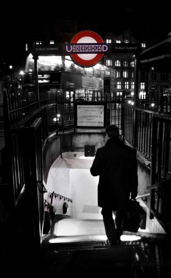
<svg viewBox="0 0 171 278">
<path fill-rule="evenodd" d="M 110 138 L 97 150 L 90 172 L 99 175 L 98 206 L 127 210 L 130 193 L 132 198 L 137 196 L 136 150 L 119 138 Z"/>
</svg>

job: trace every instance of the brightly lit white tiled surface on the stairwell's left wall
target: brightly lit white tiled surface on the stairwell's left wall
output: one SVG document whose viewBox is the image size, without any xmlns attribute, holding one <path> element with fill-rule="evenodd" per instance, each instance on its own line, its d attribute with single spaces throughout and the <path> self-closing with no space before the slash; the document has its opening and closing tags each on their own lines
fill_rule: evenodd
<svg viewBox="0 0 171 278">
<path fill-rule="evenodd" d="M 71 198 L 71 185 L 69 173 L 69 165 L 61 156 L 59 156 L 52 164 L 47 177 L 47 193 L 45 193 L 45 197 L 49 201 L 51 201 L 50 194 L 52 194 L 53 191 L 67 198 Z M 53 197 L 52 200 L 52 205 L 56 209 L 56 214 L 63 215 L 62 207 L 64 202 L 66 202 L 69 206 L 68 211 L 65 215 L 70 215 L 70 202 L 68 202 L 68 199 L 64 201 L 64 198 L 60 200 L 59 196 L 56 198 Z"/>
</svg>

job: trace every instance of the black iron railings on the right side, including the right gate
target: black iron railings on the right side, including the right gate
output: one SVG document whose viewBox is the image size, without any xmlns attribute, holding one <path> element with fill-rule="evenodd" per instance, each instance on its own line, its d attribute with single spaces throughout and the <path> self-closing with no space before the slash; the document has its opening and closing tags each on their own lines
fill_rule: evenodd
<svg viewBox="0 0 171 278">
<path fill-rule="evenodd" d="M 124 139 L 144 155 L 144 164 L 151 172 L 150 213 L 171 232 L 168 206 L 171 172 L 171 113 L 170 100 L 149 92 L 136 100 L 130 92 L 122 98 L 122 132 Z M 169 195 L 168 195 L 169 194 Z"/>
</svg>

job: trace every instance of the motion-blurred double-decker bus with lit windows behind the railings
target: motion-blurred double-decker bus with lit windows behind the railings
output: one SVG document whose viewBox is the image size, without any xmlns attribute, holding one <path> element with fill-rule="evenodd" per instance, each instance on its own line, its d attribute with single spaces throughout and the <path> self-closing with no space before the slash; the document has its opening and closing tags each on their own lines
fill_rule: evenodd
<svg viewBox="0 0 171 278">
<path fill-rule="evenodd" d="M 116 96 L 115 69 L 109 66 L 98 63 L 82 68 L 70 56 L 53 55 L 39 56 L 37 67 L 39 93 L 57 96 L 57 113 L 63 115 L 65 126 L 74 123 L 74 102 L 105 101 Z M 104 91 L 104 80 L 109 78 L 109 86 Z M 31 54 L 26 59 L 22 89 L 29 95 L 35 92 L 34 59 Z"/>
</svg>

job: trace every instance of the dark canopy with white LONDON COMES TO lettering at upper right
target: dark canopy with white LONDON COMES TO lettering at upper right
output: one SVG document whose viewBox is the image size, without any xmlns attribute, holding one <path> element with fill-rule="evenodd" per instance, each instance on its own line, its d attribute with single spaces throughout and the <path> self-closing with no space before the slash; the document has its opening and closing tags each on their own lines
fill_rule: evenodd
<svg viewBox="0 0 171 278">
<path fill-rule="evenodd" d="M 145 49 L 139 55 L 138 63 L 142 71 L 149 72 L 154 68 L 156 72 L 171 73 L 171 36 Z"/>
</svg>

